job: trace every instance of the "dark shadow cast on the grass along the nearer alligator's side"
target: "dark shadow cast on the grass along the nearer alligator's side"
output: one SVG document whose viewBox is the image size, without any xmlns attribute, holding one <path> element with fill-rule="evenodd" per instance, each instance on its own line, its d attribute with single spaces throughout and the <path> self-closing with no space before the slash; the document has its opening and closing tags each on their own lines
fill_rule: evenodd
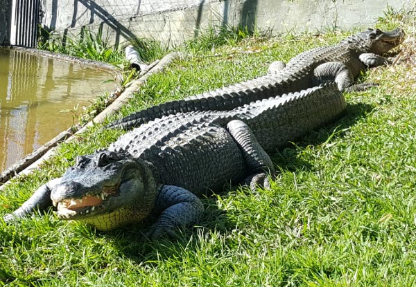
<svg viewBox="0 0 416 287">
<path fill-rule="evenodd" d="M 320 145 L 327 141 L 329 137 L 342 138 L 345 135 L 345 129 L 364 118 L 372 109 L 373 107 L 370 104 L 347 104 L 347 108 L 338 120 L 304 136 L 302 141 L 297 141 L 296 147 Z M 286 147 L 274 154 L 275 164 L 282 169 L 294 172 L 300 169 L 311 169 L 312 166 L 309 163 L 297 157 L 298 149 L 296 147 L 291 145 L 291 147 Z M 203 199 L 203 203 L 205 205 L 205 215 L 198 223 L 198 227 L 192 230 L 179 228 L 175 232 L 175 236 L 171 238 L 150 241 L 144 237 L 143 232 L 145 229 L 136 226 L 121 228 L 114 232 L 106 232 L 103 233 L 103 236 L 111 238 L 116 245 L 115 247 L 121 253 L 137 263 L 153 262 L 157 265 L 157 262 L 162 259 L 180 257 L 180 253 L 183 250 L 197 252 L 200 245 L 198 237 L 201 235 L 203 237 L 211 237 L 214 233 L 225 234 L 236 226 L 235 222 L 229 220 L 225 211 L 218 209 L 214 196 L 207 196 L 207 198 Z"/>
</svg>

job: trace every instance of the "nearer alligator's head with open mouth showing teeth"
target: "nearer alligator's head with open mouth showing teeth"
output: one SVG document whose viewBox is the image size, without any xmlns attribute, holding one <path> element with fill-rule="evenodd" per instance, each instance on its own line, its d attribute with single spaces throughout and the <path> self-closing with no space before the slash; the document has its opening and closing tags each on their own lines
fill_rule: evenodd
<svg viewBox="0 0 416 287">
<path fill-rule="evenodd" d="M 156 192 L 146 163 L 128 154 L 96 151 L 76 158 L 51 190 L 51 199 L 60 219 L 110 230 L 144 219 L 153 209 Z"/>
</svg>

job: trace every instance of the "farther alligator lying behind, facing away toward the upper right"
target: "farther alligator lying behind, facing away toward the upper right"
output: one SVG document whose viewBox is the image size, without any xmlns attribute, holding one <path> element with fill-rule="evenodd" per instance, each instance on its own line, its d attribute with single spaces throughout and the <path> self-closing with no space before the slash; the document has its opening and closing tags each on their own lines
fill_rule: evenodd
<svg viewBox="0 0 416 287">
<path fill-rule="evenodd" d="M 347 37 L 339 44 L 313 48 L 291 59 L 288 64 L 274 62 L 268 75 L 234 84 L 184 100 L 173 100 L 132 113 L 110 123 L 109 128 L 130 129 L 163 115 L 189 111 L 231 110 L 257 100 L 291 93 L 335 81 L 340 91 L 363 90 L 371 83 L 354 84 L 354 78 L 366 68 L 391 62 L 382 55 L 398 46 L 404 31 L 368 29 Z"/>
</svg>

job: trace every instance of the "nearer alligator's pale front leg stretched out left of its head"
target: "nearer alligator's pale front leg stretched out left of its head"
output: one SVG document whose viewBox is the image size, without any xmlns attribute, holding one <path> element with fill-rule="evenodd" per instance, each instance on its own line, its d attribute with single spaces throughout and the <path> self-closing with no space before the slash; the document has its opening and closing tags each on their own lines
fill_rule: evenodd
<svg viewBox="0 0 416 287">
<path fill-rule="evenodd" d="M 13 221 L 15 219 L 19 219 L 21 217 L 27 216 L 32 214 L 33 212 L 39 210 L 46 210 L 48 207 L 52 206 L 51 200 L 51 190 L 55 187 L 58 183 L 60 183 L 61 178 L 55 178 L 49 183 L 45 183 L 41 187 L 39 187 L 36 192 L 25 201 L 21 207 L 17 210 L 12 212 L 11 214 L 6 214 L 3 219 L 4 221 Z"/>
</svg>

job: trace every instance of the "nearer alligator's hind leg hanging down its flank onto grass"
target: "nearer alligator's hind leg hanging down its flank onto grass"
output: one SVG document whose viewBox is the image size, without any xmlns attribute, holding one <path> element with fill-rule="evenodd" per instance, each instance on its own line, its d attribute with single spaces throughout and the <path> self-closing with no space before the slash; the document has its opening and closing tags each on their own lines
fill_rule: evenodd
<svg viewBox="0 0 416 287">
<path fill-rule="evenodd" d="M 232 120 L 227 124 L 227 129 L 241 149 L 245 165 L 251 174 L 245 178 L 245 183 L 250 183 L 252 190 L 257 186 L 270 187 L 268 174 L 275 172 L 275 167 L 250 127 L 241 120 Z"/>
</svg>

